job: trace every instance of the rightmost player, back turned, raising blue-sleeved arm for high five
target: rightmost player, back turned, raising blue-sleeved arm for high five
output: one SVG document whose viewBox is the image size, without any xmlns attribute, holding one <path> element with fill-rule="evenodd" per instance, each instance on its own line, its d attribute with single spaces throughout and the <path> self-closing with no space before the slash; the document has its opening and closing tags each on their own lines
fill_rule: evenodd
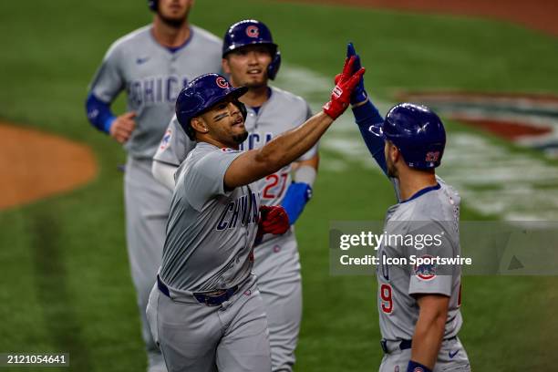
<svg viewBox="0 0 558 372">
<path fill-rule="evenodd" d="M 347 57 L 356 57 L 352 44 Z M 380 371 L 470 371 L 458 332 L 460 266 L 441 271 L 436 264 L 390 265 L 389 258 L 455 257 L 460 254 L 460 196 L 435 174 L 446 133 L 430 109 L 399 104 L 382 119 L 361 80 L 351 97 L 356 124 L 372 156 L 393 182 L 398 204 L 387 210 L 391 236 L 439 234 L 430 254 L 418 245 L 382 243 L 377 251 L 377 308 L 385 353 Z"/>
</svg>

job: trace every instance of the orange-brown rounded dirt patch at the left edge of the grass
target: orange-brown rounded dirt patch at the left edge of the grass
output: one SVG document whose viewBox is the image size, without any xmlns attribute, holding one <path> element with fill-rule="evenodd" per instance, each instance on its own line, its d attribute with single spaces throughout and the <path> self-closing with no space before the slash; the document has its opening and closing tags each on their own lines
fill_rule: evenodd
<svg viewBox="0 0 558 372">
<path fill-rule="evenodd" d="M 0 210 L 70 191 L 97 174 L 84 145 L 0 123 Z"/>
</svg>

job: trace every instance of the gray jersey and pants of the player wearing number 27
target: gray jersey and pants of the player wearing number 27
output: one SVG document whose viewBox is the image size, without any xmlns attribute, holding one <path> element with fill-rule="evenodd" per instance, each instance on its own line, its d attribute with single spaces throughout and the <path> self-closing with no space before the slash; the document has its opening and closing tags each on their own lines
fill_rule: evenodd
<svg viewBox="0 0 558 372">
<path fill-rule="evenodd" d="M 245 120 L 249 132 L 242 148 L 252 150 L 286 130 L 305 122 L 312 114 L 303 98 L 279 88 L 270 88 L 270 98 L 260 109 L 247 107 Z M 154 160 L 178 167 L 195 146 L 188 139 L 176 117 L 171 120 Z M 317 146 L 303 155 L 300 160 L 313 158 Z M 182 163 L 183 164 L 183 163 Z M 257 182 L 256 189 L 262 197 L 261 203 L 281 203 L 291 182 L 291 167 Z M 181 171 L 176 172 L 177 175 Z M 294 349 L 302 316 L 302 285 L 300 262 L 294 230 L 283 235 L 265 234 L 263 242 L 254 249 L 253 273 L 258 277 L 270 330 L 269 340 L 273 370 L 289 371 L 294 365 Z"/>
</svg>

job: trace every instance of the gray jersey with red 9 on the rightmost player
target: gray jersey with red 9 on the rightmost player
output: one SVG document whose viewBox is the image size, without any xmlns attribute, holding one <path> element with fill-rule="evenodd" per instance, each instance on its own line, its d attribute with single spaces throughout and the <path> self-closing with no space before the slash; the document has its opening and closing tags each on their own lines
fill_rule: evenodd
<svg viewBox="0 0 558 372">
<path fill-rule="evenodd" d="M 428 248 L 401 243 L 397 238 L 382 243 L 377 251 L 378 313 L 381 334 L 387 340 L 410 340 L 418 321 L 419 308 L 413 294 L 445 294 L 449 298 L 444 339 L 457 336 L 460 314 L 460 266 L 390 264 L 387 260 L 411 255 L 455 257 L 460 254 L 460 196 L 441 179 L 439 186 L 419 191 L 411 199 L 387 210 L 387 236 L 438 235 L 440 243 Z M 397 183 L 396 183 L 397 185 Z M 436 271 L 438 270 L 438 272 Z"/>
</svg>

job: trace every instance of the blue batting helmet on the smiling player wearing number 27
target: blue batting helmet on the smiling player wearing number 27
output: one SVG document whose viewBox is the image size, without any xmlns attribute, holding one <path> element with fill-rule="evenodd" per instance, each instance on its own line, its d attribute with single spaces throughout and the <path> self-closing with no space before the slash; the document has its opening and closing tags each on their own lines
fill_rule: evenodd
<svg viewBox="0 0 558 372">
<path fill-rule="evenodd" d="M 229 27 L 222 43 L 222 57 L 239 47 L 252 44 L 264 44 L 272 48 L 272 61 L 267 67 L 267 77 L 272 80 L 277 76 L 281 67 L 281 52 L 274 43 L 271 31 L 262 22 L 255 19 L 245 19 Z"/>
</svg>

